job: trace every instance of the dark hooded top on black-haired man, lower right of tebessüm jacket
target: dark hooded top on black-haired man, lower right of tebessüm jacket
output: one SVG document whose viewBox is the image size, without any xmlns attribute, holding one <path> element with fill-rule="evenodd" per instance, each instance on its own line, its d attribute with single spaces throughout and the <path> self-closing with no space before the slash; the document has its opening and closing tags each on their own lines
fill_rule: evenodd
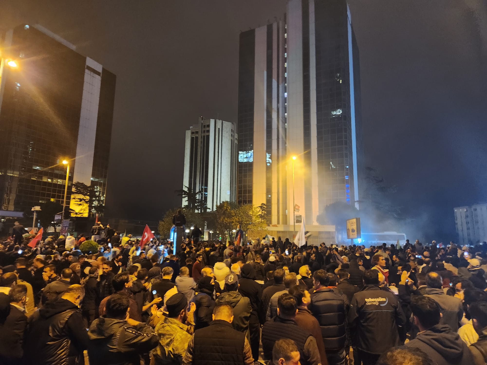
<svg viewBox="0 0 487 365">
<path fill-rule="evenodd" d="M 428 357 L 442 365 L 470 365 L 473 358 L 467 344 L 450 326 L 438 324 L 419 333 L 406 344 L 426 352 Z"/>
</svg>

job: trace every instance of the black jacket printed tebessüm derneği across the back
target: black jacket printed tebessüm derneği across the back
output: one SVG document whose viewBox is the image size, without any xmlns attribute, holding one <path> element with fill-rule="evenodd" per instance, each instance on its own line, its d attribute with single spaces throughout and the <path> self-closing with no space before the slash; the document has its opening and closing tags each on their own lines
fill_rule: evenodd
<svg viewBox="0 0 487 365">
<path fill-rule="evenodd" d="M 348 323 L 362 351 L 382 354 L 405 340 L 399 337 L 406 323 L 399 301 L 377 285 L 366 285 L 354 295 Z"/>
</svg>

